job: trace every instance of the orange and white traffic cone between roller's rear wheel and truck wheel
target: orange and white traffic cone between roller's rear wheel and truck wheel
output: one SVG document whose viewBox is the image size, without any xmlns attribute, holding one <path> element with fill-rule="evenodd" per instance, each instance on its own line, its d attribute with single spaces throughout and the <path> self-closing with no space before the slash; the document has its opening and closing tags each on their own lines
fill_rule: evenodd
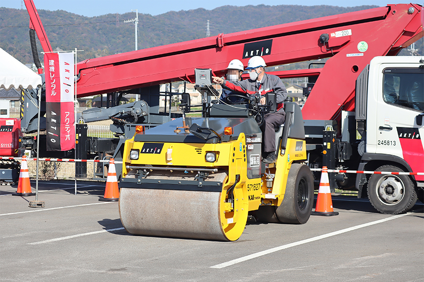
<svg viewBox="0 0 424 282">
<path fill-rule="evenodd" d="M 338 215 L 333 211 L 333 201 L 331 200 L 330 181 L 328 180 L 327 167 L 322 167 L 320 189 L 318 190 L 317 206 L 311 215 Z"/>
</svg>

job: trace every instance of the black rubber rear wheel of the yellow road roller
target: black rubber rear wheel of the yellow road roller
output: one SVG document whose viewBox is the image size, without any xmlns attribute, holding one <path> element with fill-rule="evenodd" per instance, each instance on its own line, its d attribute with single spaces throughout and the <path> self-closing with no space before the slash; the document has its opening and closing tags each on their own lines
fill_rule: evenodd
<svg viewBox="0 0 424 282">
<path fill-rule="evenodd" d="M 286 193 L 275 210 L 282 223 L 304 224 L 308 221 L 314 203 L 314 179 L 309 167 L 293 163 L 288 172 Z"/>
</svg>

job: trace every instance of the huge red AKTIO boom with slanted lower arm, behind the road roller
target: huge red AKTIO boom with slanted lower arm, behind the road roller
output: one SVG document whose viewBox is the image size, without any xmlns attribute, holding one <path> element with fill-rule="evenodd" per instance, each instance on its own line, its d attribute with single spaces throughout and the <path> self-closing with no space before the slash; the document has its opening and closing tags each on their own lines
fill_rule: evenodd
<svg viewBox="0 0 424 282">
<path fill-rule="evenodd" d="M 262 55 L 274 66 L 330 57 L 302 110 L 305 119 L 328 120 L 340 108 L 354 109 L 358 71 L 374 56 L 396 55 L 423 36 L 422 15 L 420 5 L 388 5 L 89 59 L 77 66 L 78 95 L 192 81 L 195 68 L 219 76 L 234 58 L 247 65 Z M 320 40 L 323 34 L 328 41 Z"/>
</svg>

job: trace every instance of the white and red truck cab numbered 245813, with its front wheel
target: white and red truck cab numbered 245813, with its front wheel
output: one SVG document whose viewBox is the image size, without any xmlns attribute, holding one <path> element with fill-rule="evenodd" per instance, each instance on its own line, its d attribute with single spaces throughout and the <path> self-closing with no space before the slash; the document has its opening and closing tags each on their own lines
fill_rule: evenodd
<svg viewBox="0 0 424 282">
<path fill-rule="evenodd" d="M 366 138 L 362 136 L 365 147 L 359 152 L 358 170 L 424 172 L 422 57 L 377 56 L 359 81 L 361 76 L 367 91 L 357 85 L 356 121 L 365 122 Z M 417 195 L 423 201 L 424 176 L 359 174 L 356 182 L 360 194 L 367 187 L 371 203 L 380 212 L 407 212 Z"/>
</svg>

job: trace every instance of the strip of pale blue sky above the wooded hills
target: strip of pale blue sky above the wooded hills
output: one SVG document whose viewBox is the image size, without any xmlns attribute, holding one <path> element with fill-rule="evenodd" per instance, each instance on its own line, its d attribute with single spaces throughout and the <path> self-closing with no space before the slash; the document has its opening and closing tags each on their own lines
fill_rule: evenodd
<svg viewBox="0 0 424 282">
<path fill-rule="evenodd" d="M 0 0 L 1 7 L 21 8 L 21 0 Z M 421 2 L 421 3 L 420 3 Z M 138 9 L 138 13 L 151 14 L 153 16 L 169 11 L 192 10 L 204 8 L 212 10 L 223 5 L 245 6 L 245 5 L 332 5 L 342 7 L 353 7 L 361 5 L 386 6 L 388 3 L 409 3 L 402 0 L 34 0 L 35 7 L 43 10 L 65 10 L 86 17 L 100 16 L 105 14 L 124 14 Z M 415 1 L 423 5 L 423 0 Z M 24 5 L 25 9 L 25 5 Z"/>
</svg>

